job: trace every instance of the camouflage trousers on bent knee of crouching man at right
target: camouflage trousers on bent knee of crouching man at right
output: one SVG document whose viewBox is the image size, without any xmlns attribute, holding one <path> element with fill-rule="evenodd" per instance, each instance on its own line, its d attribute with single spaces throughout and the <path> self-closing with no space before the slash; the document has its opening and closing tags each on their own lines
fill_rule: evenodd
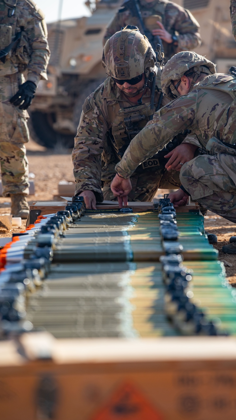
<svg viewBox="0 0 236 420">
<path fill-rule="evenodd" d="M 235 156 L 200 155 L 184 164 L 180 180 L 202 208 L 236 223 L 236 184 L 231 178 L 233 172 L 236 174 L 235 168 Z"/>
</svg>

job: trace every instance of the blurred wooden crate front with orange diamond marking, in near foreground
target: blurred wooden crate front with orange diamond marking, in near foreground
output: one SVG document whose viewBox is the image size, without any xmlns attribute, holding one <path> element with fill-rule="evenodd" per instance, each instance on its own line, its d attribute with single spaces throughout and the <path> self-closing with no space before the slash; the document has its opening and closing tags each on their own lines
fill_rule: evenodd
<svg viewBox="0 0 236 420">
<path fill-rule="evenodd" d="M 3 420 L 236 418 L 235 338 L 19 341 L 0 342 Z"/>
</svg>

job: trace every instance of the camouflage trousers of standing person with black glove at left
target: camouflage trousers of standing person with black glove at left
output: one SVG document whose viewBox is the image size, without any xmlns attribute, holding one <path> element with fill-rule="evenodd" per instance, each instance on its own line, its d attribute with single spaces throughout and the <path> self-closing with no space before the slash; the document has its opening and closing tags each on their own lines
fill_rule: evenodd
<svg viewBox="0 0 236 420">
<path fill-rule="evenodd" d="M 0 76 L 0 165 L 4 197 L 29 194 L 29 163 L 24 146 L 29 142 L 29 115 L 9 102 L 21 83 L 24 79 L 19 73 Z"/>
</svg>

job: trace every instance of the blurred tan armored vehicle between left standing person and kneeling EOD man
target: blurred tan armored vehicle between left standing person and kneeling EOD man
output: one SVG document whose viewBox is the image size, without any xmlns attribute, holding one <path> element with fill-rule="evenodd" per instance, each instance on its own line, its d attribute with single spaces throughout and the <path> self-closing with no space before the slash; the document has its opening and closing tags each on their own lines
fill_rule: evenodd
<svg viewBox="0 0 236 420">
<path fill-rule="evenodd" d="M 30 108 L 33 137 L 43 146 L 73 147 L 84 100 L 106 78 L 102 39 L 119 4 L 101 0 L 90 17 L 47 25 L 48 81 L 39 82 Z"/>
</svg>

